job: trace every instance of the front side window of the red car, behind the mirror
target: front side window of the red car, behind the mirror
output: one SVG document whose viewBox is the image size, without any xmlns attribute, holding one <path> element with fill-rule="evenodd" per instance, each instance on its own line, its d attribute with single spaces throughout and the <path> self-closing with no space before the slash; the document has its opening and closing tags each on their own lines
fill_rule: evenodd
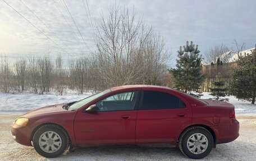
<svg viewBox="0 0 256 161">
<path fill-rule="evenodd" d="M 99 111 L 130 111 L 134 110 L 138 91 L 118 93 L 96 103 Z"/>
</svg>

